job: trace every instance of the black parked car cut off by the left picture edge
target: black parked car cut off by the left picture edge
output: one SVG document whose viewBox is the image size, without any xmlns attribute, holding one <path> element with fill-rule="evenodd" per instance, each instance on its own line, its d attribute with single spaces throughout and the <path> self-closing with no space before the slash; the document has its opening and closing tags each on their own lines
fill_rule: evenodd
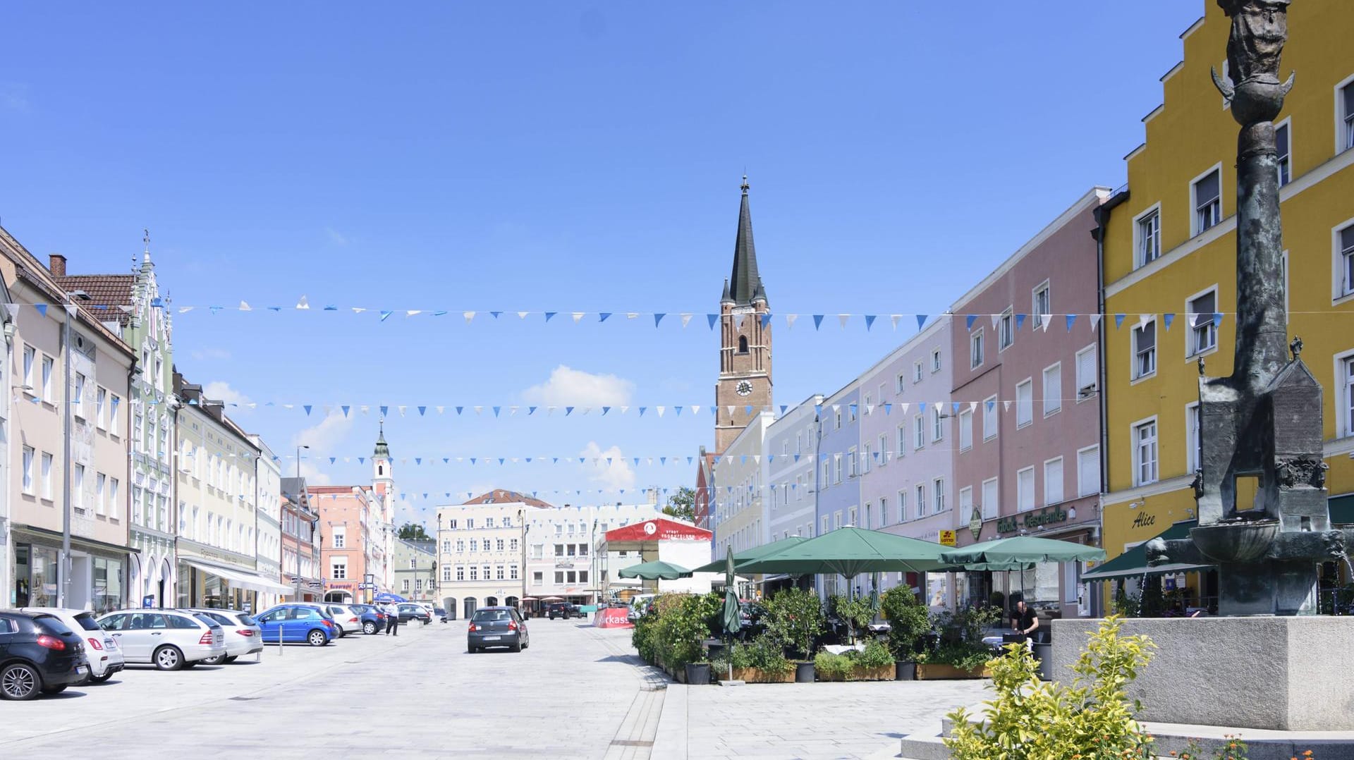
<svg viewBox="0 0 1354 760">
<path fill-rule="evenodd" d="M 60 694 L 89 675 L 84 642 L 43 612 L 0 612 L 0 698 Z"/>
</svg>

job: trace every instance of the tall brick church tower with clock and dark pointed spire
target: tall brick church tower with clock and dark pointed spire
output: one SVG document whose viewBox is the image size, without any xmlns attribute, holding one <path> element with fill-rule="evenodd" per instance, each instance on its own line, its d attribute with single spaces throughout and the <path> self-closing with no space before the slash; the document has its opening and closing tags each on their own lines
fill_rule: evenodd
<svg viewBox="0 0 1354 760">
<path fill-rule="evenodd" d="M 719 302 L 719 382 L 715 383 L 715 452 L 722 454 L 753 415 L 770 406 L 770 310 L 757 274 L 747 177 L 738 209 L 734 271 Z M 751 406 L 751 412 L 749 412 Z"/>
</svg>

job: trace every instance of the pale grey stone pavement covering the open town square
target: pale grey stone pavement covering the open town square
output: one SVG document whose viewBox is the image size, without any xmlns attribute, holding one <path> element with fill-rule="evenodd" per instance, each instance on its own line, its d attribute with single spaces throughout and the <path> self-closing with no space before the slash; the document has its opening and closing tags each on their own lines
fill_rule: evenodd
<svg viewBox="0 0 1354 760">
<path fill-rule="evenodd" d="M 531 620 L 521 653 L 466 653 L 464 623 L 288 645 L 260 661 L 0 703 L 0 757 L 868 757 L 982 699 L 974 681 L 677 687 L 627 630 Z"/>
</svg>

